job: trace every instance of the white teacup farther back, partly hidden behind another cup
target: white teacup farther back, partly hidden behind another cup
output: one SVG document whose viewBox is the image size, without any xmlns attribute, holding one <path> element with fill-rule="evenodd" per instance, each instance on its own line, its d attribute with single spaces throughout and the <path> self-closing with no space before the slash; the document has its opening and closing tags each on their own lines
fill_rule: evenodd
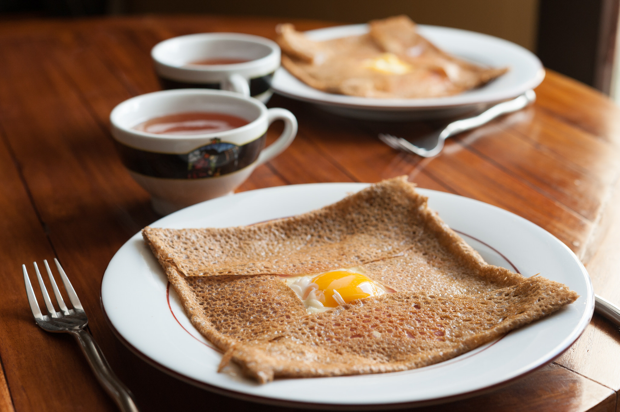
<svg viewBox="0 0 620 412">
<path fill-rule="evenodd" d="M 151 50 L 162 88 L 221 88 L 267 103 L 280 48 L 267 38 L 242 33 L 200 33 L 164 40 Z M 191 64 L 204 59 L 247 60 Z"/>
</svg>

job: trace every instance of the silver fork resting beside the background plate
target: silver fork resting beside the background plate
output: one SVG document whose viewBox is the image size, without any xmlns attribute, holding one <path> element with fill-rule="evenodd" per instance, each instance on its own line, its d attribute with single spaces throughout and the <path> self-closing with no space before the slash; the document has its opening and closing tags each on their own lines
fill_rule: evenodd
<svg viewBox="0 0 620 412">
<path fill-rule="evenodd" d="M 513 100 L 504 101 L 492 106 L 490 109 L 472 118 L 460 119 L 453 121 L 440 131 L 433 132 L 429 135 L 417 139 L 417 144 L 412 144 L 409 140 L 402 137 L 396 137 L 391 134 L 379 134 L 379 139 L 391 148 L 402 150 L 403 152 L 413 153 L 422 157 L 433 157 L 438 155 L 443 149 L 443 143 L 448 137 L 459 134 L 464 131 L 475 129 L 486 124 L 502 114 L 513 113 L 523 109 L 536 100 L 534 90 L 528 90 Z"/>
</svg>

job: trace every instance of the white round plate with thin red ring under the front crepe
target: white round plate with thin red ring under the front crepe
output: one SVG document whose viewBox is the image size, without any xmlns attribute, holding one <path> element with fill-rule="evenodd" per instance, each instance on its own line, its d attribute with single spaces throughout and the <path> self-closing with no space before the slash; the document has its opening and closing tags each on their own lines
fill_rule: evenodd
<svg viewBox="0 0 620 412">
<path fill-rule="evenodd" d="M 152 226 L 250 225 L 309 212 L 366 186 L 302 184 L 243 192 L 179 210 Z M 577 340 L 591 319 L 594 295 L 588 273 L 568 247 L 539 226 L 500 208 L 458 195 L 418 190 L 487 262 L 518 270 L 526 277 L 541 273 L 565 283 L 580 298 L 549 317 L 432 366 L 387 374 L 280 379 L 260 385 L 234 370 L 217 372 L 221 353 L 192 327 L 138 233 L 118 250 L 105 271 L 101 286 L 105 314 L 131 350 L 179 379 L 232 397 L 299 407 L 386 408 L 472 395 L 549 363 Z"/>
</svg>

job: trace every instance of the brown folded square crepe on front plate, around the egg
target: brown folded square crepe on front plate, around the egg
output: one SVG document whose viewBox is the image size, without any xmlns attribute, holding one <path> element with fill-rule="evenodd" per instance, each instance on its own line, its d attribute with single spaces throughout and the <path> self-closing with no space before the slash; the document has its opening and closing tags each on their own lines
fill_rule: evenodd
<svg viewBox="0 0 620 412">
<path fill-rule="evenodd" d="M 262 383 L 427 366 L 578 298 L 486 264 L 405 177 L 296 217 L 143 236 L 221 366 Z M 282 277 L 354 266 L 394 293 L 307 314 Z"/>
</svg>

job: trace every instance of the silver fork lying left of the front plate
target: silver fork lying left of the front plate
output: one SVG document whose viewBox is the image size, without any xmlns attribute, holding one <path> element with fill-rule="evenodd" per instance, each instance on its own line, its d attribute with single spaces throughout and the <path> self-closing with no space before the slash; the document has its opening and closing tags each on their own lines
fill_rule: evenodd
<svg viewBox="0 0 620 412">
<path fill-rule="evenodd" d="M 74 338 L 80 344 L 82 353 L 88 359 L 88 363 L 91 365 L 92 371 L 95 373 L 99 383 L 105 388 L 105 391 L 113 398 L 123 412 L 139 412 L 138 406 L 131 394 L 130 390 L 121 382 L 118 377 L 112 372 L 110 365 L 105 360 L 104 353 L 99 348 L 99 345 L 92 338 L 84 328 L 88 324 L 88 318 L 86 312 L 82 308 L 82 304 L 79 302 L 76 291 L 71 286 L 71 282 L 64 273 L 58 260 L 54 259 L 60 278 L 63 280 L 64 289 L 67 291 L 69 301 L 73 305 L 73 309 L 68 309 L 64 304 L 63 296 L 56 286 L 54 276 L 51 274 L 50 265 L 47 264 L 47 260 L 43 260 L 45 269 L 47 269 L 47 275 L 50 277 L 51 288 L 56 296 L 56 302 L 60 307 L 60 312 L 56 312 L 54 305 L 51 303 L 50 295 L 47 293 L 47 288 L 43 283 L 43 278 L 38 270 L 37 262 L 33 262 L 35 265 L 35 272 L 37 272 L 37 279 L 39 286 L 41 286 L 41 293 L 43 294 L 43 300 L 45 301 L 45 307 L 47 307 L 47 315 L 41 313 L 41 309 L 38 306 L 37 298 L 35 297 L 35 291 L 30 285 L 30 277 L 26 270 L 26 265 L 22 265 L 24 270 L 24 283 L 26 285 L 26 294 L 28 295 L 28 302 L 30 303 L 30 309 L 32 309 L 32 315 L 35 317 L 37 325 L 47 330 L 47 332 L 66 332 L 71 333 Z"/>
</svg>

